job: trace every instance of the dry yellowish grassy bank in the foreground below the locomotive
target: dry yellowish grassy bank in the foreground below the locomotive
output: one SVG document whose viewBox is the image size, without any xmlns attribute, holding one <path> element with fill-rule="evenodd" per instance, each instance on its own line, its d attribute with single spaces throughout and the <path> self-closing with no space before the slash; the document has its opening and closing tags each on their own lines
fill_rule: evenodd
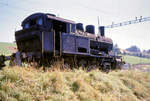
<svg viewBox="0 0 150 101">
<path fill-rule="evenodd" d="M 1 101 L 150 101 L 150 75 L 140 71 L 0 71 Z"/>
</svg>

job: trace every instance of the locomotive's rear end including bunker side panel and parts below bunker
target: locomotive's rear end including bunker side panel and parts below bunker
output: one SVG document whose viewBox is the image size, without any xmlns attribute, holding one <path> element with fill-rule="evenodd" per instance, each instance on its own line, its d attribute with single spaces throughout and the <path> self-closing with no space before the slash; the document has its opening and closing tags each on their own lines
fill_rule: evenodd
<svg viewBox="0 0 150 101">
<path fill-rule="evenodd" d="M 42 13 L 32 14 L 22 22 L 22 30 L 15 32 L 16 44 L 22 60 L 40 61 L 44 51 L 52 51 L 53 36 L 47 30 L 45 20 L 46 17 Z"/>
</svg>

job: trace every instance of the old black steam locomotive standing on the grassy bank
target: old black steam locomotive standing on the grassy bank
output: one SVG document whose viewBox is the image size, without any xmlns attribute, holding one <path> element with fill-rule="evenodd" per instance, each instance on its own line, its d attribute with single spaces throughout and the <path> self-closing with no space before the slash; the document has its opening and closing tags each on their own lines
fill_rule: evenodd
<svg viewBox="0 0 150 101">
<path fill-rule="evenodd" d="M 86 67 L 116 69 L 122 59 L 112 54 L 113 42 L 105 37 L 105 27 L 95 26 L 57 17 L 54 14 L 35 13 L 25 18 L 22 29 L 15 32 L 19 52 L 18 60 L 51 65 L 61 60 L 67 68 Z M 21 63 L 20 62 L 20 63 Z"/>
</svg>

